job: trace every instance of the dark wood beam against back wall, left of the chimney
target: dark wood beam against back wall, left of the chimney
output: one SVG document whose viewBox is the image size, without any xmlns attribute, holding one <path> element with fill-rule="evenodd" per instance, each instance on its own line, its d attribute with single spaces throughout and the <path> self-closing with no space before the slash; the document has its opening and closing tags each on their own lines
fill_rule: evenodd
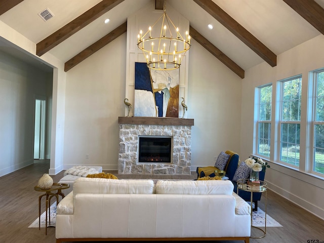
<svg viewBox="0 0 324 243">
<path fill-rule="evenodd" d="M 96 43 L 92 44 L 76 56 L 72 57 L 64 64 L 64 71 L 70 70 L 72 67 L 76 66 L 86 58 L 90 57 L 92 54 L 106 46 L 108 43 L 112 42 L 115 38 L 127 31 L 127 22 L 121 24 L 110 33 L 99 39 Z"/>
</svg>

